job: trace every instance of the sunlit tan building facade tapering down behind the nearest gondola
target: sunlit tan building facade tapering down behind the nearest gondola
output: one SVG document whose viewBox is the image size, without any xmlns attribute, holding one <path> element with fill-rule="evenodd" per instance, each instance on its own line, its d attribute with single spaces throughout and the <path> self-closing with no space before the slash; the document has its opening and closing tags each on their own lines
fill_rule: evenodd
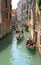
<svg viewBox="0 0 41 65">
<path fill-rule="evenodd" d="M 29 30 L 31 32 L 32 39 L 35 41 L 35 22 L 36 22 L 36 0 L 29 0 L 28 4 L 28 24 L 29 24 Z"/>
</svg>

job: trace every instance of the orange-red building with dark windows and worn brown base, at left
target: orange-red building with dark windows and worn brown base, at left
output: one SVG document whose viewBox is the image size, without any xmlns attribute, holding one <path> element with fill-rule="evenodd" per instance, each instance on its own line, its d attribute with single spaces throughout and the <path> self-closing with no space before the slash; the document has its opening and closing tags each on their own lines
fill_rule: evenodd
<svg viewBox="0 0 41 65">
<path fill-rule="evenodd" d="M 0 0 L 0 38 L 11 32 L 11 0 Z"/>
</svg>

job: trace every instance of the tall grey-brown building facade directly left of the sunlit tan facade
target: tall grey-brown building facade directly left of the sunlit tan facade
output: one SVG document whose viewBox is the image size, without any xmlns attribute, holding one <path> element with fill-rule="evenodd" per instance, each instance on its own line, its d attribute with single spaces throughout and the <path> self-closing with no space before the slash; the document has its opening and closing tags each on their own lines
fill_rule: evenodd
<svg viewBox="0 0 41 65">
<path fill-rule="evenodd" d="M 22 2 L 22 22 L 28 25 L 28 0 L 21 0 Z"/>
</svg>

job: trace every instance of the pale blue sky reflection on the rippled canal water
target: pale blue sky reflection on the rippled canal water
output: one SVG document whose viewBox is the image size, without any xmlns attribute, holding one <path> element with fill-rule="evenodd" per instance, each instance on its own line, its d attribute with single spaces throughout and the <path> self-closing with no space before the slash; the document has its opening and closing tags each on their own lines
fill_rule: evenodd
<svg viewBox="0 0 41 65">
<path fill-rule="evenodd" d="M 15 41 L 16 40 L 16 41 Z M 22 42 L 21 42 L 22 43 Z M 16 37 L 13 38 L 13 44 L 11 49 L 12 65 L 29 65 L 30 57 L 25 53 L 26 49 L 21 43 L 17 43 Z"/>
</svg>

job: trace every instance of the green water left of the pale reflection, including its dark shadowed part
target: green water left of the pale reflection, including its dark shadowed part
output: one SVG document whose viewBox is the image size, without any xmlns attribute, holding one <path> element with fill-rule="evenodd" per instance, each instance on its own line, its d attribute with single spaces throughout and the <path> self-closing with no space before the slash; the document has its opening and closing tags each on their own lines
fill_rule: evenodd
<svg viewBox="0 0 41 65">
<path fill-rule="evenodd" d="M 14 33 L 0 39 L 0 65 L 10 65 L 10 50 Z"/>
</svg>

